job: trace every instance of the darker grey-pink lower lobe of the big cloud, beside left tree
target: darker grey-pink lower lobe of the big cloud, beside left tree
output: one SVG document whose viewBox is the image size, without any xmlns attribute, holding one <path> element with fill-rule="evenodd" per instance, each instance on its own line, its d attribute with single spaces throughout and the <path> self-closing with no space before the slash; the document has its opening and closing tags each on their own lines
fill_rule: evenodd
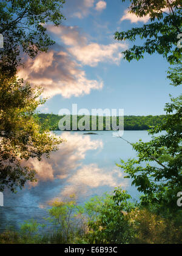
<svg viewBox="0 0 182 256">
<path fill-rule="evenodd" d="M 32 85 L 42 86 L 44 97 L 57 94 L 65 98 L 78 97 L 89 94 L 92 89 L 103 88 L 102 81 L 87 79 L 79 64 L 62 50 L 50 50 L 39 54 L 35 60 L 27 60 L 18 76 L 30 81 Z"/>
</svg>

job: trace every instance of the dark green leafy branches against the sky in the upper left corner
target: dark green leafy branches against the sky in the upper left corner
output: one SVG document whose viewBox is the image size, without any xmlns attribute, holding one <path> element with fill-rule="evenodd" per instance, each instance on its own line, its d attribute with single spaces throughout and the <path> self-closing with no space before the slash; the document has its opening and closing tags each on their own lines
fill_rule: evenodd
<svg viewBox="0 0 182 256">
<path fill-rule="evenodd" d="M 0 49 L 0 71 L 15 75 L 20 54 L 34 58 L 38 52 L 47 52 L 54 41 L 47 35 L 44 24 L 58 26 L 64 0 L 2 0 L 0 2 L 0 33 L 4 48 Z"/>
</svg>

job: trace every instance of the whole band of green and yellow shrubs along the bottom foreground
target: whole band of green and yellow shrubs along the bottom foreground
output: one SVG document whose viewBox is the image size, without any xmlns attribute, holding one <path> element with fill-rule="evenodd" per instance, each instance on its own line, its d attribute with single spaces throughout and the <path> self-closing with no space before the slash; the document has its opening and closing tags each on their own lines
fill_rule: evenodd
<svg viewBox="0 0 182 256">
<path fill-rule="evenodd" d="M 91 198 L 84 206 L 78 206 L 75 199 L 54 201 L 46 219 L 53 224 L 49 230 L 48 223 L 42 225 L 32 219 L 25 221 L 19 232 L 5 230 L 0 234 L 0 243 L 182 243 L 182 225 L 131 202 L 130 198 L 118 187 L 111 194 Z"/>
</svg>

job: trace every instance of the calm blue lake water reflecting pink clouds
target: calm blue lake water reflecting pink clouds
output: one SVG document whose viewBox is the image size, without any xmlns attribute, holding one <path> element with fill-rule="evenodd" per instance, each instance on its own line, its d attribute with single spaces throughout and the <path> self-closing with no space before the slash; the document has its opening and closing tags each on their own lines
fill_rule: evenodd
<svg viewBox="0 0 182 256">
<path fill-rule="evenodd" d="M 16 194 L 4 192 L 4 207 L 0 207 L 0 230 L 8 226 L 19 228 L 19 224 L 30 218 L 39 223 L 47 216 L 49 202 L 65 200 L 75 193 L 78 203 L 83 204 L 92 196 L 111 192 L 121 185 L 133 198 L 138 198 L 135 187 L 123 178 L 121 168 L 116 167 L 120 159 L 135 157 L 132 146 L 112 136 L 112 131 L 98 131 L 97 135 L 84 132 L 56 132 L 67 142 L 52 153 L 50 159 L 30 161 L 38 172 L 38 182 L 27 184 Z M 150 140 L 147 131 L 124 131 L 124 139 L 130 142 Z"/>
</svg>

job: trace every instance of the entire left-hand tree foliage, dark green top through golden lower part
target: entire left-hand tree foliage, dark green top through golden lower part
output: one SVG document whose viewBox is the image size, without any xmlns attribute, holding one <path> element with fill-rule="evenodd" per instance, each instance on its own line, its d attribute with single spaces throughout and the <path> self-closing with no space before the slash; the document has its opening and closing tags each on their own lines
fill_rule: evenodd
<svg viewBox="0 0 182 256">
<path fill-rule="evenodd" d="M 0 2 L 0 33 L 4 36 L 4 48 L 0 50 L 0 191 L 8 187 L 15 192 L 26 181 L 35 181 L 36 170 L 29 168 L 27 161 L 41 161 L 43 154 L 49 157 L 62 142 L 35 117 L 36 108 L 45 102 L 39 98 L 42 89 L 18 80 L 16 72 L 24 55 L 34 58 L 54 43 L 44 24 L 61 23 L 64 2 Z"/>
</svg>

